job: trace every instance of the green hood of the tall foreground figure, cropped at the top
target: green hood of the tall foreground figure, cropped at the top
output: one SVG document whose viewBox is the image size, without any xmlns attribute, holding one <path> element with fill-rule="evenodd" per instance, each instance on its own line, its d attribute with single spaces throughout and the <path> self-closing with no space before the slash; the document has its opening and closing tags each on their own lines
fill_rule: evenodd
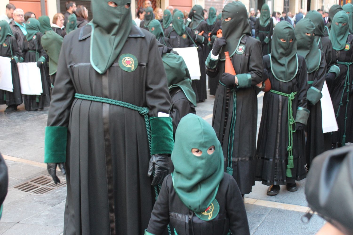
<svg viewBox="0 0 353 235">
<path fill-rule="evenodd" d="M 117 7 L 108 5 L 109 0 L 92 0 L 93 19 L 88 23 L 92 26 L 90 62 L 100 74 L 119 56 L 132 27 L 131 9 L 125 4 L 131 1 L 116 0 Z"/>
</svg>

